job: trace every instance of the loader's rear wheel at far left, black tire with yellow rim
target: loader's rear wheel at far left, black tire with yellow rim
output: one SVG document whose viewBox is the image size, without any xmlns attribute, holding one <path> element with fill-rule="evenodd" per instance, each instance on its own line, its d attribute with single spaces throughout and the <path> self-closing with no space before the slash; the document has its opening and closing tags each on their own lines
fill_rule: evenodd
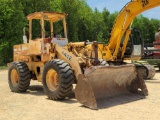
<svg viewBox="0 0 160 120">
<path fill-rule="evenodd" d="M 13 62 L 8 71 L 8 83 L 12 92 L 26 92 L 30 85 L 30 71 L 24 62 Z"/>
</svg>

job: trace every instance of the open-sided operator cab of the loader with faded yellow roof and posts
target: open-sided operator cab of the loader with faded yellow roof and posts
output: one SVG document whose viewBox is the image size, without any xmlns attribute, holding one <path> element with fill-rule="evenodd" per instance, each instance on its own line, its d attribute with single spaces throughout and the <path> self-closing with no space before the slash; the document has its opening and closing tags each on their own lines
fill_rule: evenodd
<svg viewBox="0 0 160 120">
<path fill-rule="evenodd" d="M 29 43 L 33 43 L 33 41 L 41 41 L 42 46 L 44 46 L 46 43 L 54 43 L 58 44 L 59 46 L 65 46 L 68 43 L 65 19 L 66 16 L 67 14 L 58 12 L 35 12 L 28 15 L 27 19 L 29 20 Z M 33 29 L 35 29 L 32 27 L 35 20 L 40 21 L 40 35 L 36 38 L 34 38 L 32 34 L 34 33 Z M 63 25 L 60 26 L 60 24 Z M 46 26 L 50 29 L 45 28 Z M 61 32 L 61 34 L 56 34 L 57 31 Z M 44 48 L 42 47 L 42 49 Z"/>
</svg>

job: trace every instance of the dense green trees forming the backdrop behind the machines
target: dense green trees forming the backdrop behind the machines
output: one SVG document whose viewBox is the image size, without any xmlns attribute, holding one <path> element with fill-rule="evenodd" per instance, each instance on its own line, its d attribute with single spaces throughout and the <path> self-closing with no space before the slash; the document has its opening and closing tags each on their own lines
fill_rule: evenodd
<svg viewBox="0 0 160 120">
<path fill-rule="evenodd" d="M 0 66 L 13 59 L 13 45 L 22 43 L 23 27 L 28 28 L 26 16 L 33 12 L 54 11 L 67 13 L 67 30 L 70 42 L 97 40 L 106 42 L 118 12 L 92 10 L 86 0 L 0 0 Z M 46 23 L 49 26 L 48 23 Z M 54 26 L 62 34 L 60 22 Z M 152 43 L 160 21 L 139 15 L 133 22 L 145 42 Z M 38 22 L 33 21 L 33 38 L 40 34 Z M 28 29 L 27 29 L 28 30 Z M 49 31 L 46 28 L 46 31 Z"/>
</svg>

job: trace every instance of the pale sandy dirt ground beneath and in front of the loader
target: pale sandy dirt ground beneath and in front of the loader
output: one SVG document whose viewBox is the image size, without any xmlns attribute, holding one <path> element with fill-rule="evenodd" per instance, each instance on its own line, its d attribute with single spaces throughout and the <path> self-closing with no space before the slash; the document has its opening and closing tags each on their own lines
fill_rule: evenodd
<svg viewBox="0 0 160 120">
<path fill-rule="evenodd" d="M 157 72 L 146 85 L 149 96 L 145 99 L 113 104 L 91 110 L 70 98 L 52 101 L 43 92 L 41 83 L 32 81 L 23 94 L 13 93 L 8 86 L 7 70 L 0 70 L 0 120 L 159 120 L 160 73 Z"/>
</svg>

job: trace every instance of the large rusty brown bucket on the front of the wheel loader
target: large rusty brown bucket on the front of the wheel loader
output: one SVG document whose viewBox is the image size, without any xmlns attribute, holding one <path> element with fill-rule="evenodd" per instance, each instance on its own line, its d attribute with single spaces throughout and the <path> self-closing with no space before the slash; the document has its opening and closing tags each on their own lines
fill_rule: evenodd
<svg viewBox="0 0 160 120">
<path fill-rule="evenodd" d="M 142 99 L 146 95 L 148 90 L 140 71 L 132 64 L 88 68 L 85 74 L 78 76 L 75 88 L 76 99 L 91 109 L 107 107 L 107 102 L 115 99 L 120 101 L 122 98 L 122 101 L 128 102 Z M 132 96 L 134 98 L 129 99 Z"/>
</svg>

